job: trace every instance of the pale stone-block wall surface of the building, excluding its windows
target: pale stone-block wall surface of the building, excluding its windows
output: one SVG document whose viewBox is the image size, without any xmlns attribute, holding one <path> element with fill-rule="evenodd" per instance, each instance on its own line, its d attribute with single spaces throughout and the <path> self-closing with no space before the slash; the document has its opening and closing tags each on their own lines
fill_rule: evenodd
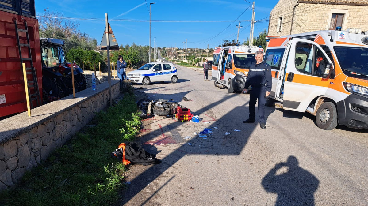
<svg viewBox="0 0 368 206">
<path fill-rule="evenodd" d="M 271 11 L 268 36 L 290 35 L 291 19 L 296 0 L 279 1 Z M 362 28 L 368 30 L 368 25 L 362 24 L 368 6 L 343 4 L 306 4 L 299 3 L 294 12 L 294 23 L 291 34 L 328 30 L 333 13 L 344 14 L 342 30 Z M 277 21 L 282 17 L 282 29 L 277 32 Z"/>
</svg>

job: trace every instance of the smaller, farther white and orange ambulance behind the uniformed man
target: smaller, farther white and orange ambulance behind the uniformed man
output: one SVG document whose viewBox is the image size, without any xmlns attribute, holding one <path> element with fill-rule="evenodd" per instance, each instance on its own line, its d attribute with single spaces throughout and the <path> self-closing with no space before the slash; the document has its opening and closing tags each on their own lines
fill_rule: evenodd
<svg viewBox="0 0 368 206">
<path fill-rule="evenodd" d="M 245 79 L 250 66 L 255 63 L 255 52 L 259 50 L 263 51 L 263 48 L 245 45 L 216 47 L 212 62 L 212 80 L 215 86 L 222 84 L 227 87 L 227 92 L 233 93 L 236 87 L 231 80 L 235 75 L 241 75 Z"/>
</svg>

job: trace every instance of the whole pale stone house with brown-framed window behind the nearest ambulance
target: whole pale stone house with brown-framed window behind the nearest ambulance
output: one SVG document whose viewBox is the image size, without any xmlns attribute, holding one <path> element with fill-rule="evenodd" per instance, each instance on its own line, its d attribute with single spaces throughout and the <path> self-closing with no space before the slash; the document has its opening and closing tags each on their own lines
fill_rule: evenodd
<svg viewBox="0 0 368 206">
<path fill-rule="evenodd" d="M 284 36 L 341 26 L 368 30 L 368 0 L 279 0 L 270 13 L 268 36 Z"/>
</svg>

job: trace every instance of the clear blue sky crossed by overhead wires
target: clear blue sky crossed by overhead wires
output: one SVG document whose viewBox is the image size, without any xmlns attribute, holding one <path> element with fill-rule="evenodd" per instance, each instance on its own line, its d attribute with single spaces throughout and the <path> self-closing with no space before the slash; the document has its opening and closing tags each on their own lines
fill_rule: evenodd
<svg viewBox="0 0 368 206">
<path fill-rule="evenodd" d="M 251 2 L 250 0 L 247 0 Z M 151 46 L 154 37 L 158 47 L 183 48 L 183 41 L 188 39 L 188 48 L 215 48 L 223 40 L 237 37 L 238 22 L 250 20 L 251 4 L 245 0 L 131 0 L 131 1 L 88 1 L 88 0 L 36 0 L 36 15 L 42 15 L 49 7 L 50 11 L 59 11 L 64 17 L 97 18 L 101 20 L 75 20 L 78 29 L 96 38 L 100 43 L 105 29 L 105 13 L 116 36 L 118 44 L 149 44 L 149 21 L 113 21 L 114 19 L 149 20 L 151 5 Z M 147 6 L 146 6 L 147 2 Z M 278 0 L 255 1 L 255 20 L 267 18 Z M 248 8 L 249 7 L 249 8 Z M 248 8 L 248 9 L 247 9 Z M 244 13 L 243 13 L 244 12 Z M 243 13 L 243 14 L 242 14 Z M 240 16 L 240 17 L 239 17 Z M 239 18 L 238 18 L 239 17 Z M 238 19 L 237 19 L 238 18 Z M 237 19 L 237 20 L 236 20 Z M 223 21 L 235 22 L 155 22 L 164 21 Z M 229 26 L 227 29 L 225 29 Z M 250 35 L 250 22 L 241 21 L 239 41 Z M 268 28 L 268 21 L 258 22 L 254 26 L 255 36 Z M 225 30 L 224 30 L 225 29 Z M 224 30 L 222 33 L 220 33 Z M 217 36 L 216 36 L 217 35 Z M 216 36 L 216 37 L 215 37 Z"/>
</svg>

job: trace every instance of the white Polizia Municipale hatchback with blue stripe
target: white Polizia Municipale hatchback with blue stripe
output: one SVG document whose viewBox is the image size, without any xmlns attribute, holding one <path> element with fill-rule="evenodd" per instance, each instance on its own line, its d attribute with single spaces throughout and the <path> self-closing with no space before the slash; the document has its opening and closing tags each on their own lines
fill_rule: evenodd
<svg viewBox="0 0 368 206">
<path fill-rule="evenodd" d="M 148 85 L 151 82 L 178 81 L 178 71 L 171 63 L 151 62 L 141 66 L 141 68 L 131 71 L 127 75 L 127 80 L 131 83 L 142 83 Z"/>
</svg>

